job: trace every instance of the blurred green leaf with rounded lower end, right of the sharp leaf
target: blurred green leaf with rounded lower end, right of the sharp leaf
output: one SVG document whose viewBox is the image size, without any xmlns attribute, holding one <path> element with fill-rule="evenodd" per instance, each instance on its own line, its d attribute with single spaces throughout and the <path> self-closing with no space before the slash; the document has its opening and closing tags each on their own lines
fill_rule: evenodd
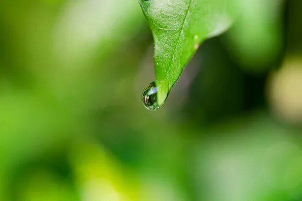
<svg viewBox="0 0 302 201">
<path fill-rule="evenodd" d="M 226 48 L 245 70 L 262 73 L 282 53 L 283 0 L 240 1 L 240 19 L 225 35 Z"/>
</svg>

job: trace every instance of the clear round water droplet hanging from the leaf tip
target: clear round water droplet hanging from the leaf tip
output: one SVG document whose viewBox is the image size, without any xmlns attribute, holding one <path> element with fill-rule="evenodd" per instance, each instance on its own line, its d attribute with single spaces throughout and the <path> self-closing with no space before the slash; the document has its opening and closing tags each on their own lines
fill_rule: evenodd
<svg viewBox="0 0 302 201">
<path fill-rule="evenodd" d="M 160 109 L 168 96 L 168 84 L 163 81 L 149 83 L 142 92 L 142 104 L 147 110 Z"/>
</svg>

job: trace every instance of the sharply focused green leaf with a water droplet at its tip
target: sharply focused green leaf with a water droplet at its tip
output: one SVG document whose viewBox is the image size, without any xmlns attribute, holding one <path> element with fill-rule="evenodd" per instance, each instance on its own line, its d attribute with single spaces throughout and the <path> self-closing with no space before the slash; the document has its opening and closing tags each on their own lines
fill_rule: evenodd
<svg viewBox="0 0 302 201">
<path fill-rule="evenodd" d="M 138 0 L 153 33 L 156 82 L 161 83 L 157 90 L 144 91 L 144 94 L 150 96 L 162 90 L 167 91 L 168 96 L 199 45 L 232 24 L 235 1 Z M 156 110 L 164 104 L 162 100 L 165 101 L 166 97 L 148 102 L 144 99 L 143 103 L 147 109 Z M 157 99 L 161 102 L 152 107 Z"/>
</svg>

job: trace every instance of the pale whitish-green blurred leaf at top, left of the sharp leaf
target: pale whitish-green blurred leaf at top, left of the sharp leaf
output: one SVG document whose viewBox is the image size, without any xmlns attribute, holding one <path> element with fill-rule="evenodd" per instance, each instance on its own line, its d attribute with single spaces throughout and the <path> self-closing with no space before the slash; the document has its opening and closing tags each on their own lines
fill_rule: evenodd
<svg viewBox="0 0 302 201">
<path fill-rule="evenodd" d="M 67 1 L 55 27 L 56 55 L 64 65 L 87 68 L 135 34 L 142 20 L 135 0 Z"/>
</svg>

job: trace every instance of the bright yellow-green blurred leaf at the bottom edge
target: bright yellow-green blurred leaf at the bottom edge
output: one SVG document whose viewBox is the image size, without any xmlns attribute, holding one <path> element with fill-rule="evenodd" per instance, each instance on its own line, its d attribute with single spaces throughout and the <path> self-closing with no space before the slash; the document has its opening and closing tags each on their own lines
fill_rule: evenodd
<svg viewBox="0 0 302 201">
<path fill-rule="evenodd" d="M 141 200 L 135 174 L 102 146 L 83 140 L 70 151 L 81 200 Z"/>
</svg>

